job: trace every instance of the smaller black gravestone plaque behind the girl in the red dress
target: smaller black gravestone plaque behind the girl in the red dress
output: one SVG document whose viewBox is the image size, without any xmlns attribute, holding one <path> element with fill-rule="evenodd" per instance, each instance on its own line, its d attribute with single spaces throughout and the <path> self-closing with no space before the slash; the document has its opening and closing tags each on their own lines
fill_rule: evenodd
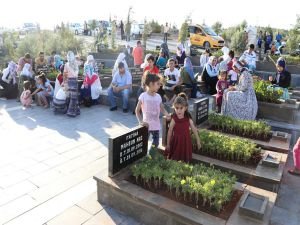
<svg viewBox="0 0 300 225">
<path fill-rule="evenodd" d="M 193 120 L 196 126 L 208 119 L 208 98 L 202 98 L 194 102 Z"/>
</svg>

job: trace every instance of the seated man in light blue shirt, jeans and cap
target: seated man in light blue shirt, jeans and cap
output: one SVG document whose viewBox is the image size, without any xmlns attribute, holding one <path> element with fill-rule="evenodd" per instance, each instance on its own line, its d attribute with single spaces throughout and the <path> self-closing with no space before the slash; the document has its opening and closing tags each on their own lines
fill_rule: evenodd
<svg viewBox="0 0 300 225">
<path fill-rule="evenodd" d="M 110 111 L 118 109 L 115 97 L 122 97 L 123 112 L 127 113 L 129 108 L 129 95 L 132 89 L 132 76 L 128 70 L 125 70 L 124 63 L 118 64 L 118 71 L 113 75 L 113 80 L 108 89 L 108 99 L 110 102 Z"/>
</svg>

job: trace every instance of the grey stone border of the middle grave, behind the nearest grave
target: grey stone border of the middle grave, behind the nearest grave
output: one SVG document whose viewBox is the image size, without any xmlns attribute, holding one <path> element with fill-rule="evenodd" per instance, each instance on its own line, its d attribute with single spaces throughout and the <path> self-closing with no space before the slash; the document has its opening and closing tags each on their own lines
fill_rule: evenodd
<svg viewBox="0 0 300 225">
<path fill-rule="evenodd" d="M 269 165 L 263 164 L 262 161 L 258 163 L 256 168 L 245 167 L 236 163 L 225 162 L 195 153 L 193 153 L 193 163 L 214 165 L 222 171 L 232 172 L 238 177 L 240 182 L 278 192 L 288 155 L 270 151 L 263 151 L 263 153 L 264 156 L 271 154 L 273 157 L 280 159 L 278 167 L 270 167 Z"/>
</svg>

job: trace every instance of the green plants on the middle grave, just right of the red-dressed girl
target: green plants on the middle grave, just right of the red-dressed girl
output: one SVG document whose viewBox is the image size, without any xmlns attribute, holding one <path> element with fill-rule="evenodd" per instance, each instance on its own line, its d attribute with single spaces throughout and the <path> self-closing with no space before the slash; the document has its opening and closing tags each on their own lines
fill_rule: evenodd
<svg viewBox="0 0 300 225">
<path fill-rule="evenodd" d="M 250 160 L 258 162 L 261 159 L 260 149 L 247 139 L 207 130 L 199 130 L 198 135 L 202 147 L 200 150 L 195 148 L 195 153 L 240 163 L 248 163 Z M 195 144 L 196 138 L 194 135 L 192 137 Z"/>
</svg>

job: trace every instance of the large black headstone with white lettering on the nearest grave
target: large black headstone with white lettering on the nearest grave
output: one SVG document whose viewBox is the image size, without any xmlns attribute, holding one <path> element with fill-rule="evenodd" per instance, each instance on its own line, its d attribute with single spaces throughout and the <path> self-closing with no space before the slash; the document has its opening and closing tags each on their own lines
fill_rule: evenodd
<svg viewBox="0 0 300 225">
<path fill-rule="evenodd" d="M 118 137 L 109 138 L 108 175 L 142 158 L 148 151 L 148 128 L 138 126 Z"/>
</svg>

